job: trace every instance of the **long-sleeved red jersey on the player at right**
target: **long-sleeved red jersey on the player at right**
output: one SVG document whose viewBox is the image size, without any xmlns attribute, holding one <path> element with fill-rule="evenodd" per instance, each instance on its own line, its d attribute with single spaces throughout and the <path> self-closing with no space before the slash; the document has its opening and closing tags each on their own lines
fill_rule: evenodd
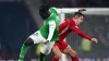
<svg viewBox="0 0 109 61">
<path fill-rule="evenodd" d="M 72 19 L 66 19 L 59 25 L 59 40 L 63 40 L 72 30 L 86 39 L 92 39 L 77 27 Z"/>
</svg>

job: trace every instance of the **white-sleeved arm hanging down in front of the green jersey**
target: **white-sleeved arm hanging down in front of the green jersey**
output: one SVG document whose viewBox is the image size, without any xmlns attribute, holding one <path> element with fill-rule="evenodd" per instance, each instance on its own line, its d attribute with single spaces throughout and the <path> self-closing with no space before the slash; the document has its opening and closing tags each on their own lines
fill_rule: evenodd
<svg viewBox="0 0 109 61">
<path fill-rule="evenodd" d="M 47 40 L 50 41 L 50 40 L 52 39 L 55 29 L 56 29 L 56 23 L 55 23 L 55 21 L 50 21 L 50 22 L 49 22 L 49 34 L 48 34 Z"/>
</svg>

